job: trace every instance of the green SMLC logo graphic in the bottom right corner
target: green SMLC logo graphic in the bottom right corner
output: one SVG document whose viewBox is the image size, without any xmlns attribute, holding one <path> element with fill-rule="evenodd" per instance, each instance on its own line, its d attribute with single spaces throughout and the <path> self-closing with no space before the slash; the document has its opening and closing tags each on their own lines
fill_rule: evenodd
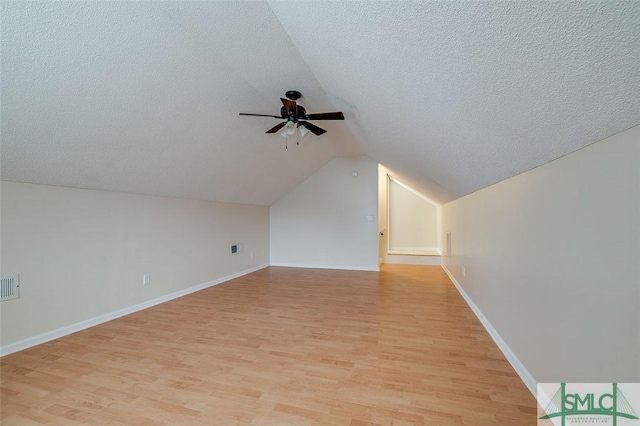
<svg viewBox="0 0 640 426">
<path fill-rule="evenodd" d="M 617 426 L 619 418 L 639 420 L 617 383 L 611 384 L 611 393 L 567 392 L 566 383 L 561 383 L 544 412 L 541 420 L 560 418 L 562 426 L 566 425 L 567 417 L 571 420 L 572 416 L 581 416 L 580 423 L 609 417 L 607 423 L 612 421 L 613 426 Z"/>
</svg>

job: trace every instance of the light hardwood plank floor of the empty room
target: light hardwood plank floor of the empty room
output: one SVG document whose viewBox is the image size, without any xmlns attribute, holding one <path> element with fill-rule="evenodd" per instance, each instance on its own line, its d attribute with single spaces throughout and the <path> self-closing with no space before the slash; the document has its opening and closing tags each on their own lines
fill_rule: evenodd
<svg viewBox="0 0 640 426">
<path fill-rule="evenodd" d="M 438 266 L 271 267 L 1 360 L 2 425 L 535 425 Z"/>
</svg>

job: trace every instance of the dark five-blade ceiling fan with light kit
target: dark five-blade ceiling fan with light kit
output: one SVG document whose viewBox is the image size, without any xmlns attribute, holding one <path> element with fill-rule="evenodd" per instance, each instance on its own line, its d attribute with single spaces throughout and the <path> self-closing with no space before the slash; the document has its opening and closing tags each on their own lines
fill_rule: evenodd
<svg viewBox="0 0 640 426">
<path fill-rule="evenodd" d="M 272 127 L 265 133 L 277 133 L 283 127 L 287 127 L 282 135 L 285 137 L 292 136 L 296 129 L 300 131 L 300 134 L 304 137 L 307 133 L 311 132 L 316 136 L 320 136 L 327 131 L 321 129 L 315 124 L 309 123 L 309 120 L 344 120 L 344 114 L 341 112 L 322 112 L 319 114 L 307 114 L 307 110 L 298 105 L 296 101 L 302 97 L 302 94 L 296 90 L 289 90 L 285 93 L 285 98 L 280 98 L 282 101 L 282 108 L 280 108 L 280 115 L 269 114 L 251 114 L 241 112 L 240 115 L 251 115 L 254 117 L 273 117 L 284 119 L 282 123 Z"/>
</svg>

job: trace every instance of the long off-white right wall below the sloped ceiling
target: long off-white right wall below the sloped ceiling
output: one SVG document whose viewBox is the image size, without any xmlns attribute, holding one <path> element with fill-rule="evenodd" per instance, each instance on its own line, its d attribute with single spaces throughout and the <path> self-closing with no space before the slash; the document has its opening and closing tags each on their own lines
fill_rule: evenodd
<svg viewBox="0 0 640 426">
<path fill-rule="evenodd" d="M 536 381 L 640 382 L 640 127 L 442 217 L 444 264 Z"/>
</svg>

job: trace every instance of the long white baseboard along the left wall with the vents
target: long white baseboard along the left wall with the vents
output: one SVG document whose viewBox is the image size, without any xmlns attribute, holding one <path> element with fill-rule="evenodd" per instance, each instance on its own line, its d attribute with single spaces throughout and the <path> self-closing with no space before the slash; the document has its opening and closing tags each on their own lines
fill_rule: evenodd
<svg viewBox="0 0 640 426">
<path fill-rule="evenodd" d="M 80 321 L 75 324 L 71 324 L 71 325 L 61 327 L 52 331 L 48 331 L 46 333 L 38 334 L 37 336 L 29 337 L 27 339 L 20 340 L 18 342 L 0 346 L 0 357 L 12 354 L 14 352 L 22 351 L 24 349 L 27 349 L 36 345 L 40 345 L 42 343 L 49 342 L 51 340 L 59 339 L 60 337 L 78 332 L 80 330 L 84 330 L 89 327 L 102 324 L 103 322 L 111 321 L 113 319 L 116 319 L 125 315 L 129 315 L 134 312 L 141 311 L 143 309 L 147 309 L 155 305 L 159 305 L 160 303 L 168 302 L 169 300 L 172 300 L 172 299 L 177 299 L 178 297 L 186 296 L 187 294 L 194 293 L 199 290 L 204 290 L 205 288 L 212 287 L 214 285 L 222 284 L 223 282 L 232 280 L 234 278 L 239 278 L 243 275 L 247 275 L 252 272 L 258 271 L 260 269 L 264 269 L 268 266 L 269 266 L 268 264 L 258 265 L 249 269 L 242 270 L 240 272 L 236 272 L 235 274 L 218 278 L 213 281 L 198 284 L 193 287 L 186 288 L 184 290 L 179 290 L 174 293 L 156 297 L 155 299 L 147 300 L 146 302 L 142 302 L 133 306 L 128 306 L 126 308 L 118 309 L 117 311 L 109 312 L 107 314 L 90 318 L 84 321 Z"/>
</svg>

